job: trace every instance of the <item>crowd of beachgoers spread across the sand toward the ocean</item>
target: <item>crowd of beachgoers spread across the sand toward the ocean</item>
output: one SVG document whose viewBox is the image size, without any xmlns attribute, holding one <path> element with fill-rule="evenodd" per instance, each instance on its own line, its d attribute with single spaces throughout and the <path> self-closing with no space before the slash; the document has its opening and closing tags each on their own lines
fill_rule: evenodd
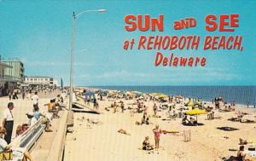
<svg viewBox="0 0 256 161">
<path fill-rule="evenodd" d="M 143 124 L 152 124 L 150 123 L 151 118 L 160 118 L 163 117 L 163 111 L 166 111 L 166 116 L 168 118 L 181 118 L 181 124 L 186 126 L 196 126 L 203 125 L 197 122 L 197 117 L 195 115 L 187 114 L 187 111 L 193 109 L 200 109 L 207 114 L 207 120 L 216 119 L 215 112 L 232 112 L 235 110 L 236 103 L 235 101 L 231 101 L 227 103 L 224 101 L 223 97 L 217 97 L 213 99 L 212 104 L 209 102 L 202 101 L 201 98 L 192 99 L 185 98 L 184 96 L 168 96 L 167 98 L 160 98 L 157 96 L 143 94 L 141 96 L 127 96 L 124 94 L 117 95 L 106 95 L 107 100 L 113 101 L 110 107 L 105 107 L 106 111 L 110 111 L 113 109 L 113 113 L 117 112 L 125 112 L 125 110 L 129 110 L 132 113 L 143 113 L 141 121 L 136 121 L 137 125 Z M 102 101 L 102 95 L 99 101 Z M 134 103 L 125 104 L 123 100 L 136 100 Z M 148 115 L 148 109 L 150 106 L 147 106 L 148 101 L 153 101 L 152 110 L 153 115 Z M 192 103 L 191 103 L 192 102 Z M 194 102 L 194 103 L 193 103 Z M 129 106 L 130 105 L 130 106 Z M 155 125 L 153 129 L 154 135 L 154 145 L 149 140 L 148 136 L 144 137 L 143 140 L 143 150 L 151 151 L 153 149 L 160 148 L 160 135 L 168 133 L 166 130 L 160 129 L 158 124 Z M 241 159 L 242 158 L 242 159 Z M 240 151 L 237 153 L 237 156 L 234 157 L 234 161 L 240 161 L 245 158 L 245 154 L 243 153 L 243 148 L 240 148 Z M 232 160 L 233 161 L 233 160 Z"/>
</svg>

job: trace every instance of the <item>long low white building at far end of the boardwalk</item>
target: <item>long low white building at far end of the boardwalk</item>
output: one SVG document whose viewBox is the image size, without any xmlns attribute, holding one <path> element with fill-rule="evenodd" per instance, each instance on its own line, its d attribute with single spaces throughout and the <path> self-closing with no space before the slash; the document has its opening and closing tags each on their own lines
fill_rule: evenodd
<svg viewBox="0 0 256 161">
<path fill-rule="evenodd" d="M 27 76 L 24 85 L 31 87 L 57 87 L 58 83 L 52 77 L 47 76 Z"/>
</svg>

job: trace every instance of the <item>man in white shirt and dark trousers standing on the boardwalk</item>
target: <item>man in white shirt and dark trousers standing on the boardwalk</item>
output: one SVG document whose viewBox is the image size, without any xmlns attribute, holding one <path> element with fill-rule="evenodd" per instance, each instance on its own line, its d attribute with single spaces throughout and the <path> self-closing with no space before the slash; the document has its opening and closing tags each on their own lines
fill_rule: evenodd
<svg viewBox="0 0 256 161">
<path fill-rule="evenodd" d="M 11 142 L 13 128 L 14 128 L 14 116 L 12 110 L 15 108 L 13 102 L 9 102 L 7 108 L 3 111 L 3 127 L 6 129 L 6 135 L 4 140 L 9 144 Z"/>
</svg>

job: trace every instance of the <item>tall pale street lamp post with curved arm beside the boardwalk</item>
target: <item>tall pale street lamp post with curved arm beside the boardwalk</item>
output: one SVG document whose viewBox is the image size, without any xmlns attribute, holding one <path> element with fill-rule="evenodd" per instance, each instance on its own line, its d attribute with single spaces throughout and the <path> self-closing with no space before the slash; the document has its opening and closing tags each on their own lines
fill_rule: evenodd
<svg viewBox="0 0 256 161">
<path fill-rule="evenodd" d="M 69 112 L 71 112 L 72 104 L 73 104 L 73 60 L 74 60 L 74 54 L 75 54 L 75 20 L 79 18 L 82 14 L 90 13 L 90 12 L 98 12 L 98 13 L 104 13 L 106 12 L 106 9 L 97 9 L 97 10 L 84 10 L 83 12 L 79 14 L 75 14 L 73 12 L 73 19 L 72 19 L 72 32 L 71 32 L 71 63 L 70 63 L 70 92 L 69 92 Z"/>
</svg>

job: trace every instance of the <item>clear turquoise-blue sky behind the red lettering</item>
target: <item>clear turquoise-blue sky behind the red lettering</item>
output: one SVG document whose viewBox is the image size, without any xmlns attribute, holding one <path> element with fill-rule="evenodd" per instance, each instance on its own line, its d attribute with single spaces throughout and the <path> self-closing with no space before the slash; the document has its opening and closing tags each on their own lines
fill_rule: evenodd
<svg viewBox="0 0 256 161">
<path fill-rule="evenodd" d="M 69 83 L 72 13 L 75 21 L 75 85 L 255 85 L 256 1 L 26 1 L 0 0 L 0 55 L 24 62 L 26 76 L 51 76 Z M 126 32 L 125 15 L 164 14 L 163 32 Z M 235 32 L 207 32 L 207 14 L 239 14 Z M 194 17 L 197 26 L 174 30 Z M 123 49 L 141 35 L 241 35 L 243 50 L 160 50 L 163 55 L 206 57 L 204 67 L 154 66 L 158 50 Z M 201 46 L 200 46 L 201 47 Z"/>
</svg>

